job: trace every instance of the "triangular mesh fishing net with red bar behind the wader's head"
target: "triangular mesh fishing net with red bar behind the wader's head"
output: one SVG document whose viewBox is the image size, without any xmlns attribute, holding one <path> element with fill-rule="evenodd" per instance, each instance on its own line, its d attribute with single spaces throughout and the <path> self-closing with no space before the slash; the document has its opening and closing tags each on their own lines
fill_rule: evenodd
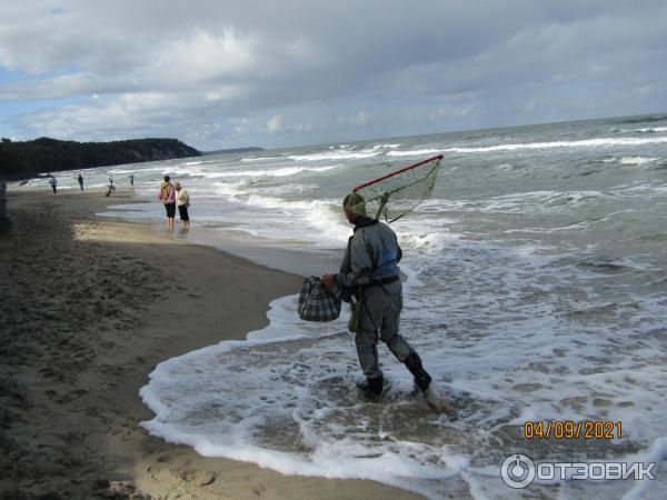
<svg viewBox="0 0 667 500">
<path fill-rule="evenodd" d="M 430 158 L 355 188 L 347 202 L 348 210 L 388 222 L 400 219 L 430 197 L 441 159 Z"/>
</svg>

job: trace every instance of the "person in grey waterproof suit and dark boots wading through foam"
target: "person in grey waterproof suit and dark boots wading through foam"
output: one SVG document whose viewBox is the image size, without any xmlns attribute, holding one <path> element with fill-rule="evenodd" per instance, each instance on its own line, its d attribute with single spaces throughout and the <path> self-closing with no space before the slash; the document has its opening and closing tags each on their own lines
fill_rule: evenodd
<svg viewBox="0 0 667 500">
<path fill-rule="evenodd" d="M 380 396 L 384 386 L 382 370 L 378 361 L 378 341 L 382 340 L 394 356 L 406 366 L 415 378 L 415 384 L 424 393 L 428 404 L 439 411 L 449 411 L 447 401 L 436 390 L 431 390 L 431 377 L 424 369 L 415 349 L 398 331 L 402 309 L 402 284 L 398 262 L 402 251 L 396 233 L 388 224 L 359 214 L 364 198 L 352 193 L 342 201 L 348 221 L 355 224 L 354 234 L 348 240 L 345 258 L 338 274 L 325 274 L 325 287 L 336 283 L 352 291 L 357 299 L 358 314 L 355 342 L 366 383 L 359 389 Z M 352 211 L 355 208 L 355 211 Z"/>
</svg>

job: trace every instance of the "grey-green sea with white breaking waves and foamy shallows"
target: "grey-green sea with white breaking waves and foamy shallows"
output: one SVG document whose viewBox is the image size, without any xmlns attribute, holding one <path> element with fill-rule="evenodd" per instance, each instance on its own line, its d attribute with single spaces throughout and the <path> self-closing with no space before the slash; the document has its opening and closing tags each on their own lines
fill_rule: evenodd
<svg viewBox="0 0 667 500">
<path fill-rule="evenodd" d="M 157 194 L 169 174 L 192 219 L 171 238 L 306 277 L 338 270 L 351 234 L 345 194 L 436 154 L 430 199 L 391 227 L 404 250 L 401 332 L 457 420 L 428 409 L 385 346 L 390 389 L 379 401 L 359 393 L 347 306 L 331 323 L 300 321 L 295 290 L 246 341 L 158 364 L 140 392 L 156 416 L 142 426 L 203 456 L 432 499 L 667 498 L 667 113 L 56 177 L 78 189 L 79 172 L 88 187 L 133 174 L 147 203 L 103 216 L 166 232 Z M 530 484 L 508 486 L 504 462 L 520 462 L 514 487 Z M 635 464 L 629 479 L 614 477 L 615 462 Z"/>
</svg>

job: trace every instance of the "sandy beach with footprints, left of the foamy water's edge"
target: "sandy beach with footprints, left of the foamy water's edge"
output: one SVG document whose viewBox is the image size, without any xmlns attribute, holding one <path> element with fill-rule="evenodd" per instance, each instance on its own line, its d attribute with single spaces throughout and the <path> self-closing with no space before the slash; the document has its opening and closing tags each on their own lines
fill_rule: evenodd
<svg viewBox="0 0 667 500">
<path fill-rule="evenodd" d="M 10 191 L 0 236 L 1 499 L 420 498 L 372 481 L 286 477 L 150 437 L 155 366 L 267 323 L 301 278 L 179 233 L 98 218 L 120 189 Z M 178 221 L 177 221 L 178 223 Z"/>
</svg>

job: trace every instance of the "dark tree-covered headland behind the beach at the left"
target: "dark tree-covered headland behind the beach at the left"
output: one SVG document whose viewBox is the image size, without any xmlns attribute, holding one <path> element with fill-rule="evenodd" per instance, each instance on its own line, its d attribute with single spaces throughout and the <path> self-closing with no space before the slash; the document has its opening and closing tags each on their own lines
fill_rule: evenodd
<svg viewBox="0 0 667 500">
<path fill-rule="evenodd" d="M 33 141 L 0 142 L 0 177 L 21 179 L 39 172 L 76 170 L 111 164 L 140 163 L 201 153 L 177 139 L 135 139 L 112 142 Z"/>
</svg>

